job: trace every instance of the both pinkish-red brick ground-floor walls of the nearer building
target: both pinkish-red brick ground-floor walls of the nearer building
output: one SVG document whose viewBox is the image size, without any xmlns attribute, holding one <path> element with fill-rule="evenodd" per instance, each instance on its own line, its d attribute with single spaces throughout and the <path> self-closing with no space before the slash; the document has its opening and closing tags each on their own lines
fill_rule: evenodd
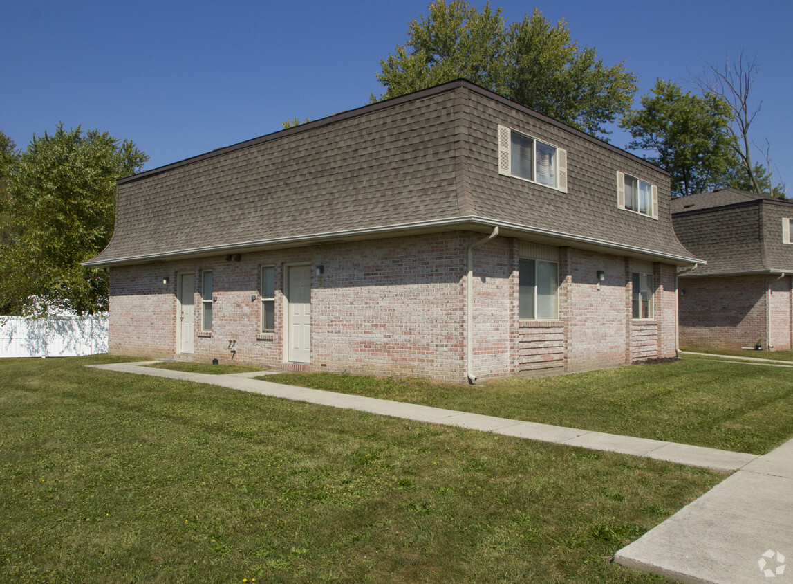
<svg viewBox="0 0 793 584">
<path fill-rule="evenodd" d="M 465 251 L 481 237 L 454 232 L 246 253 L 240 261 L 219 255 L 115 267 L 110 352 L 231 363 L 233 348 L 234 363 L 283 367 L 285 269 L 311 263 L 312 359 L 305 368 L 463 381 Z M 477 378 L 580 371 L 674 355 L 673 267 L 657 265 L 656 318 L 634 325 L 630 260 L 561 248 L 560 319 L 519 321 L 518 247 L 515 240 L 496 238 L 474 249 L 471 371 Z M 271 334 L 259 331 L 262 265 L 275 266 Z M 204 270 L 213 271 L 217 297 L 210 335 L 198 333 Z M 606 274 L 600 290 L 598 270 Z M 176 341 L 176 287 L 184 271 L 194 275 L 192 355 L 179 355 Z M 653 327 L 649 343 L 645 333 Z M 641 349 L 634 339 L 641 339 Z"/>
</svg>

